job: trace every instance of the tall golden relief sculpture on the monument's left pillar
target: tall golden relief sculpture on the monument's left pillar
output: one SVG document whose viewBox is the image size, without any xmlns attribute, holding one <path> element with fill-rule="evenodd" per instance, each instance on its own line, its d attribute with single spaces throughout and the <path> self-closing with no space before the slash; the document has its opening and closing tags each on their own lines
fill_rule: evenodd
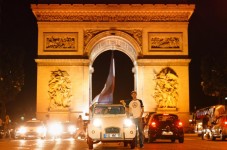
<svg viewBox="0 0 227 150">
<path fill-rule="evenodd" d="M 49 80 L 49 110 L 67 110 L 71 104 L 71 81 L 69 74 L 60 69 L 52 71 Z"/>
</svg>

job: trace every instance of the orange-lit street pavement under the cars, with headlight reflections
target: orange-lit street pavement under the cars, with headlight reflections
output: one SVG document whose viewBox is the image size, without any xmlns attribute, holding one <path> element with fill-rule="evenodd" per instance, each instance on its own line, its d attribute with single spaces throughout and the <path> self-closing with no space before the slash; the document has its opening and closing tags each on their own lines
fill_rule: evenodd
<svg viewBox="0 0 227 150">
<path fill-rule="evenodd" d="M 196 135 L 186 135 L 183 144 L 171 143 L 170 140 L 157 140 L 154 143 L 146 143 L 144 150 L 226 150 L 227 141 L 201 140 Z M 1 150 L 88 150 L 86 141 L 74 139 L 46 139 L 46 140 L 0 140 Z M 94 150 L 122 150 L 130 149 L 124 147 L 123 143 L 98 143 L 94 144 Z M 135 148 L 139 149 L 139 148 Z"/>
</svg>

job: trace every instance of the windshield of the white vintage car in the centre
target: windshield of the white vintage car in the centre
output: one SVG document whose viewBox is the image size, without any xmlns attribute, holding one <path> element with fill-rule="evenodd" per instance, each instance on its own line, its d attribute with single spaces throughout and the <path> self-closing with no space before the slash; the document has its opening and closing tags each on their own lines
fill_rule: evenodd
<svg viewBox="0 0 227 150">
<path fill-rule="evenodd" d="M 95 114 L 125 114 L 125 108 L 122 106 L 97 106 Z"/>
</svg>

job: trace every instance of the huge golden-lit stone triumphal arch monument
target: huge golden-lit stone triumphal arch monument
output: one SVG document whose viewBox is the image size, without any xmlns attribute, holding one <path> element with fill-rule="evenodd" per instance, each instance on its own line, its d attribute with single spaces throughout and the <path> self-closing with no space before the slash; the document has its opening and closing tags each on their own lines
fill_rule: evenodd
<svg viewBox="0 0 227 150">
<path fill-rule="evenodd" d="M 89 111 L 92 67 L 104 51 L 133 62 L 146 112 L 189 116 L 186 4 L 32 4 L 38 24 L 37 118 L 73 120 Z"/>
</svg>

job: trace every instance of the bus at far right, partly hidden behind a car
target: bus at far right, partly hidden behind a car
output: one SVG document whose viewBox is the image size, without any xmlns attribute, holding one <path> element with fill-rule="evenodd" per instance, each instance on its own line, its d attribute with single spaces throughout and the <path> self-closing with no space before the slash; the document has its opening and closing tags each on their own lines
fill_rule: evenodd
<svg viewBox="0 0 227 150">
<path fill-rule="evenodd" d="M 226 113 L 225 105 L 213 105 L 205 108 L 198 109 L 195 114 L 195 133 L 198 134 L 198 136 L 202 135 L 203 125 L 202 120 L 206 114 L 209 115 L 209 124 L 211 126 L 211 122 L 216 121 L 216 119 Z"/>
</svg>

